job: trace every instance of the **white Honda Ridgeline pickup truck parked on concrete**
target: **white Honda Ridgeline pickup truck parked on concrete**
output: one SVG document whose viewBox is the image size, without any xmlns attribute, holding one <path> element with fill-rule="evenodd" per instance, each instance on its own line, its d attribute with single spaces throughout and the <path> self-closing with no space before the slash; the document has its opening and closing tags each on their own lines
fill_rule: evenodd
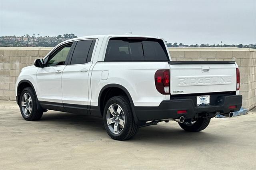
<svg viewBox="0 0 256 170">
<path fill-rule="evenodd" d="M 111 138 L 127 140 L 161 121 L 196 132 L 232 117 L 239 88 L 234 61 L 172 61 L 162 38 L 106 35 L 67 40 L 24 67 L 16 99 L 27 121 L 47 110 L 100 116 Z"/>
</svg>

